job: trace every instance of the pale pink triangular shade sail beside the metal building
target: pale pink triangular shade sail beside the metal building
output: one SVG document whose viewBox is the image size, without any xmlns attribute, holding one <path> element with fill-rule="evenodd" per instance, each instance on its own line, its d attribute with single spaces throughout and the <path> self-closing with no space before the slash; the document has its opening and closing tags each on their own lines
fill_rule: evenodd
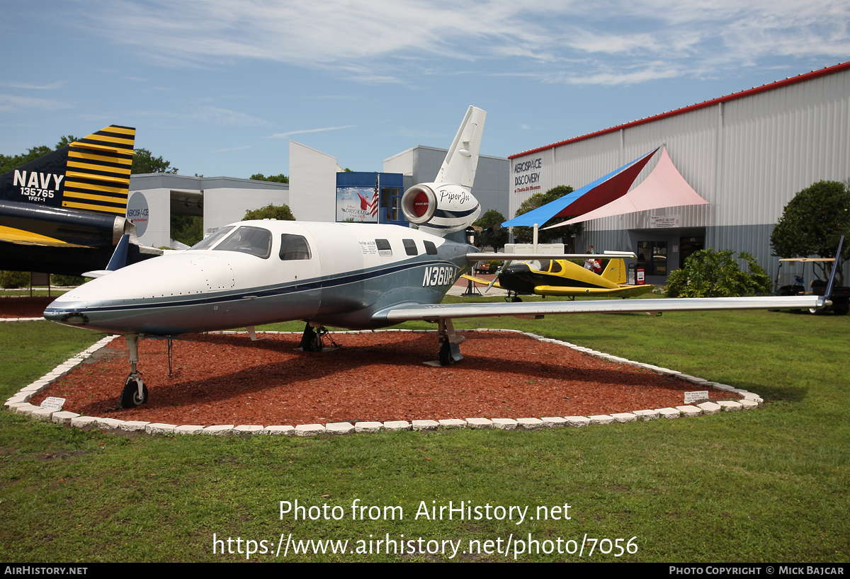
<svg viewBox="0 0 850 579">
<path fill-rule="evenodd" d="M 557 228 L 571 223 L 580 223 L 609 217 L 633 213 L 635 211 L 647 211 L 649 209 L 661 209 L 662 207 L 678 207 L 681 205 L 708 205 L 708 201 L 700 197 L 696 191 L 679 174 L 667 149 L 661 149 L 661 158 L 658 165 L 649 173 L 649 177 L 643 180 L 629 193 L 619 199 L 611 201 L 608 205 L 589 211 L 569 221 L 552 225 L 546 229 Z"/>
</svg>

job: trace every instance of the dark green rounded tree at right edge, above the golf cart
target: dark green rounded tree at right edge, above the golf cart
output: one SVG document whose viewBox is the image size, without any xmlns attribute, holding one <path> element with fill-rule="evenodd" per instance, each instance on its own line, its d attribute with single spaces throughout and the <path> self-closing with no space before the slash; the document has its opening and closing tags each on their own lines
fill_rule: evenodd
<svg viewBox="0 0 850 579">
<path fill-rule="evenodd" d="M 770 246 L 779 257 L 835 257 L 838 240 L 850 238 L 850 187 L 837 181 L 819 181 L 803 189 L 785 205 Z M 842 259 L 850 259 L 850 239 L 845 240 Z M 817 263 L 828 278 L 831 262 Z M 838 279 L 844 284 L 842 264 L 838 263 Z"/>
</svg>

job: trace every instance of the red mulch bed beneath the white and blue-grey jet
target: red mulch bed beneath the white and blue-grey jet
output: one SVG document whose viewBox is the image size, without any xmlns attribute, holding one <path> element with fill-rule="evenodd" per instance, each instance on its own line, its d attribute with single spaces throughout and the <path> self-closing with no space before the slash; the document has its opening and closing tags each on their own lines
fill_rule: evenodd
<svg viewBox="0 0 850 579">
<path fill-rule="evenodd" d="M 118 338 L 31 403 L 59 396 L 71 412 L 167 424 L 294 425 L 588 416 L 675 407 L 696 389 L 514 333 L 467 332 L 465 359 L 445 368 L 422 364 L 436 357 L 434 333 L 331 334 L 341 349 L 306 353 L 294 349 L 300 335 L 266 335 L 175 340 L 171 378 L 167 342 L 142 340 L 139 370 L 150 396 L 128 409 L 116 408 L 129 373 Z"/>
</svg>

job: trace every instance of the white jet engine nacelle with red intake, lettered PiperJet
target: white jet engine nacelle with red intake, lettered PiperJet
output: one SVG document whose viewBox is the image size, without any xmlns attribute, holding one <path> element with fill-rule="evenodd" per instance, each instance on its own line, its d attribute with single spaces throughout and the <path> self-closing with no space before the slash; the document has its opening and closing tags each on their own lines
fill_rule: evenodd
<svg viewBox="0 0 850 579">
<path fill-rule="evenodd" d="M 401 197 L 407 221 L 433 235 L 444 236 L 466 229 L 481 213 L 481 205 L 461 185 L 419 183 Z"/>
</svg>

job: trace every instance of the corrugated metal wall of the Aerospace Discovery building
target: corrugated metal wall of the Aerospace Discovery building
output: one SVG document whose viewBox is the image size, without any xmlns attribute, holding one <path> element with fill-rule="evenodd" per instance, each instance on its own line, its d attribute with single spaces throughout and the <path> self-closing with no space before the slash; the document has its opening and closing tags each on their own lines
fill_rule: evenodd
<svg viewBox="0 0 850 579">
<path fill-rule="evenodd" d="M 518 157 L 511 173 L 515 164 L 542 157 L 541 191 L 556 185 L 579 188 L 662 143 L 685 180 L 711 205 L 652 214 L 680 214 L 683 228 L 706 228 L 706 246 L 749 251 L 775 270 L 769 235 L 785 204 L 819 180 L 850 177 L 850 70 Z M 635 183 L 656 162 L 650 160 Z M 530 196 L 513 189 L 512 216 Z M 627 230 L 648 230 L 649 216 L 641 211 L 587 222 L 581 245 L 626 249 Z"/>
</svg>

